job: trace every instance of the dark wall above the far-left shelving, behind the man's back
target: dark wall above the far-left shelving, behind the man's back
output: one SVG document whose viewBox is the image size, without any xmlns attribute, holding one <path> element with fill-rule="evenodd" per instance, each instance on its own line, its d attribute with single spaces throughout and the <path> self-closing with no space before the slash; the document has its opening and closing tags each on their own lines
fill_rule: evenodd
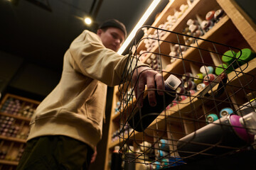
<svg viewBox="0 0 256 170">
<path fill-rule="evenodd" d="M 42 101 L 58 84 L 60 73 L 0 51 L 0 92 Z"/>
</svg>

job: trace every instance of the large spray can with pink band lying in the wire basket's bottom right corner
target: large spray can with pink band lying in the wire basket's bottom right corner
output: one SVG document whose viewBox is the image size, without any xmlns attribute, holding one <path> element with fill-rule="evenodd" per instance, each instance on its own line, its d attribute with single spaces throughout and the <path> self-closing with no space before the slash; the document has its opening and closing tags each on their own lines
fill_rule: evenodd
<svg viewBox="0 0 256 170">
<path fill-rule="evenodd" d="M 188 157 L 186 162 L 190 162 L 234 152 L 249 145 L 254 135 L 245 130 L 240 118 L 231 114 L 186 135 L 177 142 L 178 154 Z"/>
</svg>

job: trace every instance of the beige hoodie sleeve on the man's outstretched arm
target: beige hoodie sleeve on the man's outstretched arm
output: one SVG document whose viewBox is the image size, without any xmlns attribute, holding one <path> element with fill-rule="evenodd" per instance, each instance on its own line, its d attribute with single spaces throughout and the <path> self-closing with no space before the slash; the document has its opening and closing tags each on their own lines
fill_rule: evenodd
<svg viewBox="0 0 256 170">
<path fill-rule="evenodd" d="M 85 30 L 70 45 L 71 64 L 73 68 L 92 79 L 97 79 L 108 86 L 118 85 L 124 71 L 129 72 L 135 67 L 149 67 L 142 62 L 133 60 L 132 69 L 125 70 L 128 55 L 118 55 L 106 48 L 98 35 Z"/>
</svg>

